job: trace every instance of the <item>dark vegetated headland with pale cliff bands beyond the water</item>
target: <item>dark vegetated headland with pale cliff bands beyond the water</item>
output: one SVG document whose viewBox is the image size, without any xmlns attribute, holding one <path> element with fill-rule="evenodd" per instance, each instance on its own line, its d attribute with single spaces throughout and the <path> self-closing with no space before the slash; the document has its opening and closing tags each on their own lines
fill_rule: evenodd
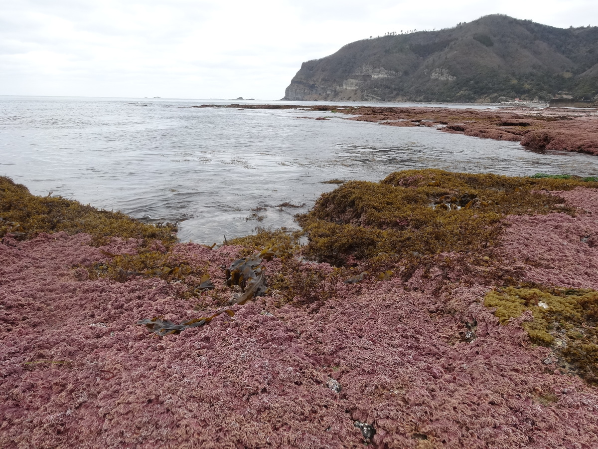
<svg viewBox="0 0 598 449">
<path fill-rule="evenodd" d="M 598 27 L 560 29 L 495 14 L 390 34 L 310 60 L 286 100 L 498 102 L 598 96 Z"/>
</svg>

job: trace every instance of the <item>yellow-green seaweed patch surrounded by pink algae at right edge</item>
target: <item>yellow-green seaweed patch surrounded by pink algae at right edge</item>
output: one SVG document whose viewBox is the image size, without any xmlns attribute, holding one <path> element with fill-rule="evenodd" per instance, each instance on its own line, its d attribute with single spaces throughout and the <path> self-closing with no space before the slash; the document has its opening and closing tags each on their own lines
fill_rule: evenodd
<svg viewBox="0 0 598 449">
<path fill-rule="evenodd" d="M 552 347 L 563 366 L 598 384 L 598 292 L 591 289 L 506 287 L 486 294 L 501 324 L 532 313 L 521 326 L 532 342 Z"/>
</svg>

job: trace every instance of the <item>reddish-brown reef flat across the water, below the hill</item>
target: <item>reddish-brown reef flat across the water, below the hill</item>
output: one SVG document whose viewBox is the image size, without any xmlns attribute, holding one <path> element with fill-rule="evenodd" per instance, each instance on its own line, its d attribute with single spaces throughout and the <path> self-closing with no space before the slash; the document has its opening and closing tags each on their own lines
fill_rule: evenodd
<svg viewBox="0 0 598 449">
<path fill-rule="evenodd" d="M 533 108 L 353 107 L 346 105 L 230 104 L 190 108 L 300 109 L 350 114 L 349 120 L 388 126 L 429 126 L 453 134 L 520 142 L 535 151 L 576 151 L 598 155 L 598 110 Z"/>
</svg>

